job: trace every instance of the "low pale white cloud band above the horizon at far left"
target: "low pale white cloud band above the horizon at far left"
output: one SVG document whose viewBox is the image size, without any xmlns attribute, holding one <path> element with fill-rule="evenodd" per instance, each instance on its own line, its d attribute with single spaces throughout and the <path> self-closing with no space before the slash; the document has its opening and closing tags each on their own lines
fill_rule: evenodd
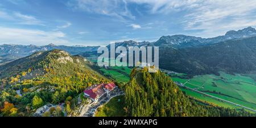
<svg viewBox="0 0 256 128">
<path fill-rule="evenodd" d="M 41 31 L 36 29 L 19 29 L 0 27 L 0 40 L 2 43 L 44 45 L 49 42 L 54 44 L 68 44 L 65 33 L 60 31 Z"/>
</svg>

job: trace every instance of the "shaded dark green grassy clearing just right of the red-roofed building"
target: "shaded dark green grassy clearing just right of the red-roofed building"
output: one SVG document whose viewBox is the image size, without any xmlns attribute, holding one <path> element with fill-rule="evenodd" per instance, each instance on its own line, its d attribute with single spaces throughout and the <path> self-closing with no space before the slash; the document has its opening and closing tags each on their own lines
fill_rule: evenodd
<svg viewBox="0 0 256 128">
<path fill-rule="evenodd" d="M 123 117 L 126 116 L 125 96 L 117 96 L 111 99 L 108 103 L 100 106 L 97 109 L 96 117 Z"/>
</svg>

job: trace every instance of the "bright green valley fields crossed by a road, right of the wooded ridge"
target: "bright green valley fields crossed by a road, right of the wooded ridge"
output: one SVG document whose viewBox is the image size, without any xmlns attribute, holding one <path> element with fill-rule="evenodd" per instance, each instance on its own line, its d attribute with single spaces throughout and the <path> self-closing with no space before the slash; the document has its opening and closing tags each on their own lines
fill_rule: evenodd
<svg viewBox="0 0 256 128">
<path fill-rule="evenodd" d="M 189 79 L 181 79 L 176 75 L 175 77 L 172 77 L 172 80 L 185 83 Z M 185 84 L 185 86 L 256 110 L 256 82 L 253 78 L 247 75 L 230 75 L 225 72 L 220 72 L 220 76 L 199 75 L 194 76 L 187 84 Z M 188 89 L 182 88 L 182 90 L 186 92 L 187 95 L 196 97 L 200 100 L 224 107 L 239 108 L 236 105 L 224 103 Z"/>
</svg>

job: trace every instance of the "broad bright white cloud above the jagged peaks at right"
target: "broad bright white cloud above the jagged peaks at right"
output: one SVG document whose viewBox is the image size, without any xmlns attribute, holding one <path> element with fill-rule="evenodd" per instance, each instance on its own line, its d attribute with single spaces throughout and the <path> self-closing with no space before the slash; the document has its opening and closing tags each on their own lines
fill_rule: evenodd
<svg viewBox="0 0 256 128">
<path fill-rule="evenodd" d="M 185 29 L 201 29 L 209 36 L 256 25 L 255 1 L 204 1 L 188 10 L 191 14 L 184 17 Z"/>
</svg>

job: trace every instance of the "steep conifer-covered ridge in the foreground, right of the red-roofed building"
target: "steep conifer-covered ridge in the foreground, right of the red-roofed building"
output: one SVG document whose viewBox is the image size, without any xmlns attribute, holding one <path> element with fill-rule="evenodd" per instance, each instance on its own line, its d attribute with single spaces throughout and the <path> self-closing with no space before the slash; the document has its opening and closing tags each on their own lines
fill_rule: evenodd
<svg viewBox="0 0 256 128">
<path fill-rule="evenodd" d="M 255 116 L 245 110 L 220 108 L 185 96 L 163 72 L 134 69 L 125 88 L 128 116 Z M 204 105 L 203 105 L 204 104 Z"/>
</svg>

